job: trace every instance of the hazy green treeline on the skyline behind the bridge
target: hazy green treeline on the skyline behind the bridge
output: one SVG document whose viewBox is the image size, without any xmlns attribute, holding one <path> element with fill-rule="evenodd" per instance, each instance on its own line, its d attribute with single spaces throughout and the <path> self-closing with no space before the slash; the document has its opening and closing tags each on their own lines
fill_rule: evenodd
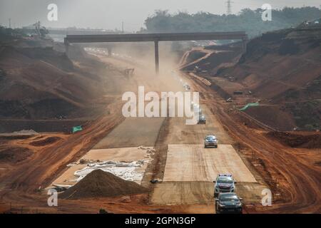
<svg viewBox="0 0 321 228">
<path fill-rule="evenodd" d="M 144 32 L 210 32 L 210 31 L 246 31 L 250 37 L 260 33 L 282 28 L 298 26 L 303 21 L 321 17 L 321 10 L 316 7 L 284 8 L 272 11 L 272 21 L 262 20 L 261 9 L 243 9 L 238 15 L 215 15 L 206 12 L 188 14 L 168 11 L 155 11 L 145 21 Z"/>
</svg>

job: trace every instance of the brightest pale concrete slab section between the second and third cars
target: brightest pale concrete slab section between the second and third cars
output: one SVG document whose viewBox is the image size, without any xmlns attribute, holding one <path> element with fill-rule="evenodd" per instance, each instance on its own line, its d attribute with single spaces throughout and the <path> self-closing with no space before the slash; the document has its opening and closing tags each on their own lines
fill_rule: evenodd
<svg viewBox="0 0 321 228">
<path fill-rule="evenodd" d="M 256 182 L 231 145 L 168 145 L 163 181 L 213 182 L 219 173 L 230 173 L 238 182 Z"/>
</svg>

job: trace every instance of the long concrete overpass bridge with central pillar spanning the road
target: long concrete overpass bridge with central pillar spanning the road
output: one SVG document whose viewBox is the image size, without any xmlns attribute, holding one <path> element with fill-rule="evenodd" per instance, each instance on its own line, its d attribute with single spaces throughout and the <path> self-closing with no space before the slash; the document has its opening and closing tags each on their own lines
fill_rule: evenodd
<svg viewBox="0 0 321 228">
<path fill-rule="evenodd" d="M 156 73 L 159 71 L 158 42 L 160 41 L 210 41 L 240 40 L 243 51 L 246 48 L 248 35 L 244 31 L 215 33 L 133 33 L 108 35 L 67 35 L 65 38 L 66 53 L 69 43 L 117 43 L 117 42 L 154 42 Z"/>
</svg>

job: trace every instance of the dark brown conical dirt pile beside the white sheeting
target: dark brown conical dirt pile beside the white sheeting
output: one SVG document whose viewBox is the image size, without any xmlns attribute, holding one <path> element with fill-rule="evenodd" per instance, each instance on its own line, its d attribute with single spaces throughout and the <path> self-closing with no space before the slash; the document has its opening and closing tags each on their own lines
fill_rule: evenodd
<svg viewBox="0 0 321 228">
<path fill-rule="evenodd" d="M 63 199 L 83 199 L 136 195 L 145 192 L 148 192 L 148 190 L 136 182 L 123 180 L 110 172 L 94 170 L 76 185 L 61 193 L 59 197 Z"/>
</svg>

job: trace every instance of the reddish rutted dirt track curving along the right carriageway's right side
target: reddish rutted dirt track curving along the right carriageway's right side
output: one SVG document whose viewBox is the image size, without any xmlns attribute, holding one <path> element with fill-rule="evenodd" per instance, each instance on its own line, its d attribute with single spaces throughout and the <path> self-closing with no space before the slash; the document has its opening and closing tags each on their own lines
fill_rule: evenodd
<svg viewBox="0 0 321 228">
<path fill-rule="evenodd" d="M 262 130 L 253 130 L 240 122 L 237 113 L 225 108 L 224 100 L 210 88 L 195 81 L 195 88 L 203 91 L 205 103 L 216 113 L 220 123 L 237 142 L 248 160 L 260 161 L 260 172 L 274 193 L 272 207 L 257 204 L 249 212 L 320 213 L 321 167 L 320 150 L 294 149 L 270 140 Z M 306 155 L 306 156 L 305 156 Z M 251 158 L 252 157 L 252 158 Z M 314 157 L 310 159 L 309 157 Z"/>
</svg>

